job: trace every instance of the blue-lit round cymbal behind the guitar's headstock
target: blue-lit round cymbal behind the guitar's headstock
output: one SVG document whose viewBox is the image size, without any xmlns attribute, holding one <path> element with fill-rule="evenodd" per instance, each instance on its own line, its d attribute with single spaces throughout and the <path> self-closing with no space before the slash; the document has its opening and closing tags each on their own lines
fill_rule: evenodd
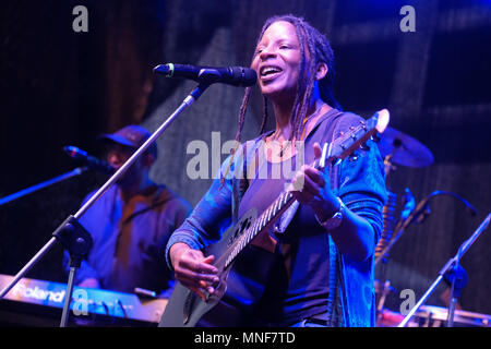
<svg viewBox="0 0 491 349">
<path fill-rule="evenodd" d="M 379 149 L 383 158 L 391 155 L 390 160 L 400 166 L 427 167 L 434 160 L 426 145 L 391 127 L 381 134 Z"/>
</svg>

